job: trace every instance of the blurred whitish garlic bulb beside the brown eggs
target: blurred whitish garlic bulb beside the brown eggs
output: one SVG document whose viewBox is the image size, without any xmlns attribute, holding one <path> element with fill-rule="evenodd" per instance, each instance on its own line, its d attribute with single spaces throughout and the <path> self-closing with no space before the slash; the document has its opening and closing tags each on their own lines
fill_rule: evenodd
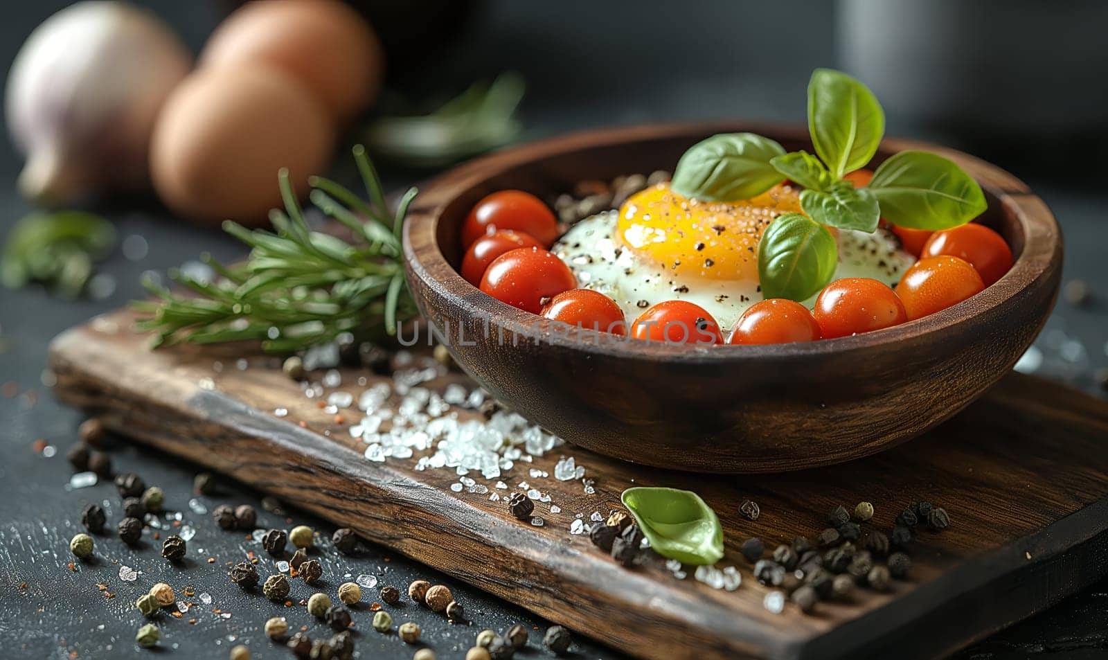
<svg viewBox="0 0 1108 660">
<path fill-rule="evenodd" d="M 45 204 L 133 188 L 154 120 L 192 58 L 152 12 L 78 2 L 28 38 L 8 76 L 8 126 L 27 154 L 19 188 Z"/>
</svg>

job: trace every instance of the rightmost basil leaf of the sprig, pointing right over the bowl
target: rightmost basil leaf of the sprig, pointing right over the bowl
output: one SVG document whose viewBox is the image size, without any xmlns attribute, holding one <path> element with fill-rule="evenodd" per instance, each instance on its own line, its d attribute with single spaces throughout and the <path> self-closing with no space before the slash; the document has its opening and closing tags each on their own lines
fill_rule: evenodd
<svg viewBox="0 0 1108 660">
<path fill-rule="evenodd" d="M 981 186 L 964 169 L 930 152 L 901 152 L 878 167 L 868 186 L 881 216 L 900 227 L 948 229 L 985 212 Z"/>
</svg>

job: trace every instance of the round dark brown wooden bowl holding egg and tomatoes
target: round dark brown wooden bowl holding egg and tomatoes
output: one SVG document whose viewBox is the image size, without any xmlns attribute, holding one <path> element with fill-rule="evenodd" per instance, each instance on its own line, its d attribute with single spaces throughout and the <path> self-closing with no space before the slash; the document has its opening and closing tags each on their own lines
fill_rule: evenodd
<svg viewBox="0 0 1108 660">
<path fill-rule="evenodd" d="M 546 140 L 444 174 L 417 198 L 403 235 L 408 281 L 425 320 L 496 399 L 566 441 L 711 473 L 806 468 L 893 446 L 979 396 L 1035 339 L 1061 272 L 1050 210 L 997 167 L 906 140 L 884 141 L 875 162 L 907 148 L 954 159 L 981 183 L 988 199 L 981 221 L 1002 233 L 1016 261 L 970 300 L 895 328 L 765 347 L 620 341 L 557 328 L 458 275 L 460 228 L 483 196 L 519 188 L 547 198 L 578 181 L 673 169 L 697 141 L 736 131 L 812 152 L 797 127 L 654 125 Z"/>
</svg>

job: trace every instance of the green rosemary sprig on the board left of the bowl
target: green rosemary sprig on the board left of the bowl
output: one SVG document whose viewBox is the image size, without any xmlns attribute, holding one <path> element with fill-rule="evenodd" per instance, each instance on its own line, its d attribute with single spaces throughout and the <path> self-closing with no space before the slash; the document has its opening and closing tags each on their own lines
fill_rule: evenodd
<svg viewBox="0 0 1108 660">
<path fill-rule="evenodd" d="M 225 231 L 250 246 L 244 264 L 224 266 L 202 255 L 217 276 L 213 281 L 171 270 L 171 279 L 185 293 L 151 278 L 143 280 L 154 299 L 132 305 L 146 314 L 138 329 L 155 333 L 152 346 L 260 341 L 267 351 L 287 353 L 382 326 L 394 334 L 397 321 L 414 313 L 404 282 L 400 229 L 417 190 L 410 188 L 396 213 L 389 213 L 366 149 L 356 146 L 353 157 L 368 202 L 318 176 L 309 179 L 308 197 L 351 230 L 352 243 L 308 226 L 288 171 L 281 169 L 277 178 L 285 209 L 270 212 L 274 231 L 247 229 L 230 220 L 223 224 Z"/>
</svg>

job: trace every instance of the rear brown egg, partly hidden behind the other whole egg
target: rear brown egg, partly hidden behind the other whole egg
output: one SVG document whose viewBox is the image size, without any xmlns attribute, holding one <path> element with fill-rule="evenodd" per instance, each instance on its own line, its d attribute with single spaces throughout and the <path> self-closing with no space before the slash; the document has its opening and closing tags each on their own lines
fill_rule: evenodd
<svg viewBox="0 0 1108 660">
<path fill-rule="evenodd" d="M 296 75 L 340 122 L 369 107 L 384 73 L 377 34 L 337 0 L 247 2 L 201 53 L 201 66 L 260 63 Z"/>
</svg>

